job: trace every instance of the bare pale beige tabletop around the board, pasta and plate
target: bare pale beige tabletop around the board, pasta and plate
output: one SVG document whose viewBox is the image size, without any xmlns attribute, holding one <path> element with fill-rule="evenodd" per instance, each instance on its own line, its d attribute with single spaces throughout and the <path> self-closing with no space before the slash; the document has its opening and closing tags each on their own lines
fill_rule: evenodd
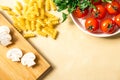
<svg viewBox="0 0 120 80">
<path fill-rule="evenodd" d="M 15 1 L 0 0 L 0 5 L 13 7 Z M 41 36 L 29 40 L 53 67 L 41 80 L 120 80 L 120 34 L 89 36 L 70 17 L 57 29 L 56 40 Z"/>
</svg>

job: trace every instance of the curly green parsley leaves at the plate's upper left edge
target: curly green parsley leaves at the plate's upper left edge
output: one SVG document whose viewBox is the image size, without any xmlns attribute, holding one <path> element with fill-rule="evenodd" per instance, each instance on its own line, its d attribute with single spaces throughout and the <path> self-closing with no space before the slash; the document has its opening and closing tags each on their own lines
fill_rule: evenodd
<svg viewBox="0 0 120 80">
<path fill-rule="evenodd" d="M 91 0 L 53 0 L 56 6 L 58 7 L 58 11 L 67 10 L 68 13 L 62 12 L 63 22 L 67 19 L 68 15 L 72 13 L 76 6 L 78 6 L 81 10 L 85 10 L 86 8 L 95 8 L 92 4 Z M 97 2 L 98 0 L 94 0 Z M 102 2 L 111 2 L 112 0 L 102 0 Z"/>
</svg>

